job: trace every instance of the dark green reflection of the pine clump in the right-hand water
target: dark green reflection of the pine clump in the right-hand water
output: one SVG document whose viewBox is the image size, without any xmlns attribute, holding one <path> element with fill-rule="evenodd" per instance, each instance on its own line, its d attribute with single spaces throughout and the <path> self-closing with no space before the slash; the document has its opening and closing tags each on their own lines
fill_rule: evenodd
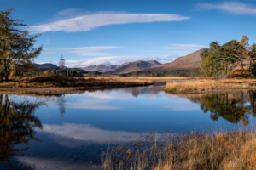
<svg viewBox="0 0 256 170">
<path fill-rule="evenodd" d="M 243 92 L 239 94 L 208 94 L 201 97 L 201 109 L 204 112 L 210 111 L 212 120 L 223 117 L 225 120 L 237 123 L 242 122 L 243 126 L 249 123 L 249 105 L 243 99 Z"/>
</svg>

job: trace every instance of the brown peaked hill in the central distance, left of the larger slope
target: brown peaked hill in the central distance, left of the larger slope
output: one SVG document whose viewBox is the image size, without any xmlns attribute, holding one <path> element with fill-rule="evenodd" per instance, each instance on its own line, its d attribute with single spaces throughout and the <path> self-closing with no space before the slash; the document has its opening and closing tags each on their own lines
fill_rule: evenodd
<svg viewBox="0 0 256 170">
<path fill-rule="evenodd" d="M 154 64 L 152 64 L 154 63 Z M 127 65 L 124 65 L 120 67 L 119 69 L 116 69 L 115 71 L 107 71 L 105 72 L 106 74 L 119 74 L 119 73 L 128 73 L 131 71 L 143 71 L 144 69 L 153 67 L 155 65 L 160 65 L 159 62 L 157 61 L 143 61 L 143 60 L 138 60 L 132 63 L 129 63 Z"/>
</svg>

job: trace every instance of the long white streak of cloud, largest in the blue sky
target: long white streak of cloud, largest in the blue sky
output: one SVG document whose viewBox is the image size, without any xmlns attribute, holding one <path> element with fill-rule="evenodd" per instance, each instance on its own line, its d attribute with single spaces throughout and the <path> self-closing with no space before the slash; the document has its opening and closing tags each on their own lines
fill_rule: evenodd
<svg viewBox="0 0 256 170">
<path fill-rule="evenodd" d="M 61 15 L 68 15 L 73 10 L 62 11 Z M 129 23 L 147 23 L 147 22 L 163 22 L 163 21 L 182 21 L 189 20 L 180 14 L 125 14 L 100 12 L 96 14 L 84 14 L 69 19 L 56 20 L 48 24 L 31 26 L 28 31 L 47 32 L 47 31 L 91 31 L 99 26 L 109 26 Z"/>
</svg>

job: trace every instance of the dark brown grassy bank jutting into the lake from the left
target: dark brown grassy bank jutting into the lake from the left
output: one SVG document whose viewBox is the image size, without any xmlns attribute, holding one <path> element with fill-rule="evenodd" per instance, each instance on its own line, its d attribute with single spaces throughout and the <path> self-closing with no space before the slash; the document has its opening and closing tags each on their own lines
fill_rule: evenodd
<svg viewBox="0 0 256 170">
<path fill-rule="evenodd" d="M 152 81 L 140 80 L 115 80 L 113 78 L 84 78 L 84 77 L 62 77 L 35 76 L 35 77 L 12 77 L 9 82 L 1 82 L 1 91 L 46 91 L 58 93 L 62 91 L 94 90 L 108 88 L 123 88 L 148 86 L 154 84 Z M 60 92 L 60 93 L 61 93 Z"/>
</svg>

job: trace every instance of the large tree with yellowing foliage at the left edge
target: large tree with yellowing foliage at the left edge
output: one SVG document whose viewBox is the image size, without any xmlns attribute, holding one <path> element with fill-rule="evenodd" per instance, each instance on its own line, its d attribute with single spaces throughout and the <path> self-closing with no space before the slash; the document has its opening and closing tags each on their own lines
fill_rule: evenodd
<svg viewBox="0 0 256 170">
<path fill-rule="evenodd" d="M 31 36 L 28 31 L 20 30 L 20 26 L 26 25 L 23 20 L 12 19 L 12 11 L 12 8 L 0 11 L 0 78 L 4 72 L 5 81 L 10 71 L 34 68 L 33 59 L 43 48 L 34 48 L 40 34 Z"/>
</svg>

